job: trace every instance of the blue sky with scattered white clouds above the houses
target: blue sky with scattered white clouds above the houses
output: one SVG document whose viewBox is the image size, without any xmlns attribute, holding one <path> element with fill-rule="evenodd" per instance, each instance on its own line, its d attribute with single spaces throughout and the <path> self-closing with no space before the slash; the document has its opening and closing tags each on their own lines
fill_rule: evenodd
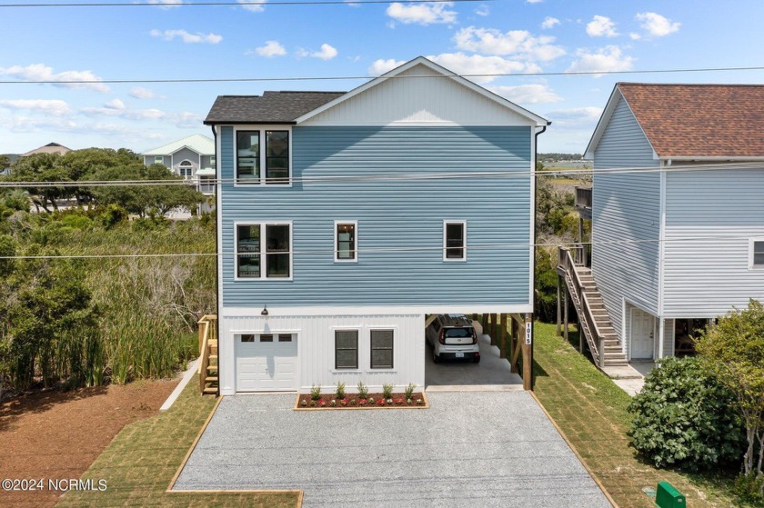
<svg viewBox="0 0 764 508">
<path fill-rule="evenodd" d="M 140 152 L 190 134 L 209 135 L 202 120 L 216 95 L 349 90 L 365 82 L 20 83 L 29 80 L 366 76 L 417 55 L 459 74 L 764 65 L 760 0 L 139 1 L 156 5 L 0 7 L 0 81 L 11 82 L 0 84 L 0 153 L 50 142 Z M 760 84 L 764 71 L 473 79 L 553 122 L 539 151 L 580 153 L 618 81 Z"/>
</svg>

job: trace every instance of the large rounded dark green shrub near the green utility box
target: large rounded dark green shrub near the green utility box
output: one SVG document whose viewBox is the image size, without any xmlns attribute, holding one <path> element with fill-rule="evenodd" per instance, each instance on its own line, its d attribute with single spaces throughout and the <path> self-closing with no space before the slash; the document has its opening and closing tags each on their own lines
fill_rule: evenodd
<svg viewBox="0 0 764 508">
<path fill-rule="evenodd" d="M 734 402 L 697 359 L 668 358 L 628 405 L 631 445 L 656 467 L 697 471 L 739 460 L 745 434 Z"/>
</svg>

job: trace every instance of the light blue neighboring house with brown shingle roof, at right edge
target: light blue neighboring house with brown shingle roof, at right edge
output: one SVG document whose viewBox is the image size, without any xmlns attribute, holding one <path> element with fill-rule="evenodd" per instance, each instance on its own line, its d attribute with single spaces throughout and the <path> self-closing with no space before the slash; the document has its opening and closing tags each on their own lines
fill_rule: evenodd
<svg viewBox="0 0 764 508">
<path fill-rule="evenodd" d="M 764 85 L 618 83 L 594 160 L 591 274 L 629 361 L 764 299 Z"/>
</svg>

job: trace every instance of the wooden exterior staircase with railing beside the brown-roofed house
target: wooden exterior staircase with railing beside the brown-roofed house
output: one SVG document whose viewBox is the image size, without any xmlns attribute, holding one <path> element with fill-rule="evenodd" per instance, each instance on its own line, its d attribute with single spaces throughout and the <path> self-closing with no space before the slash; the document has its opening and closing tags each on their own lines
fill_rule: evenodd
<svg viewBox="0 0 764 508">
<path fill-rule="evenodd" d="M 582 247 L 574 247 L 578 249 Z M 580 332 L 584 334 L 589 351 L 599 368 L 628 365 L 613 324 L 591 269 L 583 266 L 583 255 L 571 254 L 571 249 L 559 248 L 558 273 L 563 275 L 565 285 L 578 314 Z"/>
</svg>

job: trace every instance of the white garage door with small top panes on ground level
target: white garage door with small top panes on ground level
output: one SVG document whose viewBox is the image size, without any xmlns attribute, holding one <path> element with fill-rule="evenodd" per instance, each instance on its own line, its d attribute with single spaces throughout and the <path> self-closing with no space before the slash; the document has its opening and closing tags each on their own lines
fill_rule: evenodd
<svg viewBox="0 0 764 508">
<path fill-rule="evenodd" d="M 297 335 L 236 335 L 236 392 L 283 390 L 297 390 Z"/>
</svg>

